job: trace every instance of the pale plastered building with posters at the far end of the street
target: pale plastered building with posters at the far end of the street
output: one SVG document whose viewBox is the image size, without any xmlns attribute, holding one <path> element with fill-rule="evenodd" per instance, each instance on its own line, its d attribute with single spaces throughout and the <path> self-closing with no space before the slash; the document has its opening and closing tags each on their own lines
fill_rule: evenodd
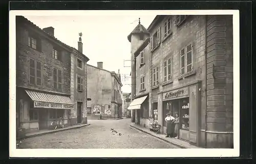
<svg viewBox="0 0 256 164">
<path fill-rule="evenodd" d="M 121 76 L 103 69 L 103 63 L 97 67 L 87 65 L 88 70 L 88 118 L 121 118 Z"/>
</svg>

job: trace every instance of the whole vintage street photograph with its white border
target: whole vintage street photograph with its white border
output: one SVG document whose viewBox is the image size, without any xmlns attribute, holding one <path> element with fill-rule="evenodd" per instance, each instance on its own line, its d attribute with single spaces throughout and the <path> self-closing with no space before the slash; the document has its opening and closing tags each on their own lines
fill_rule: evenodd
<svg viewBox="0 0 256 164">
<path fill-rule="evenodd" d="M 9 28 L 11 157 L 239 156 L 239 11 L 17 10 Z"/>
</svg>

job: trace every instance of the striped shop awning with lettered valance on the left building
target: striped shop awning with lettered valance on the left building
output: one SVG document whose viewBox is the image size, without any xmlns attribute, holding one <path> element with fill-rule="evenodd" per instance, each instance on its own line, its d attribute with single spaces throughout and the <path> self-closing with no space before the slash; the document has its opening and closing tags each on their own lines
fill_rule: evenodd
<svg viewBox="0 0 256 164">
<path fill-rule="evenodd" d="M 29 97 L 34 101 L 34 107 L 37 108 L 74 108 L 74 103 L 68 96 L 47 94 L 36 91 L 25 90 Z"/>
</svg>

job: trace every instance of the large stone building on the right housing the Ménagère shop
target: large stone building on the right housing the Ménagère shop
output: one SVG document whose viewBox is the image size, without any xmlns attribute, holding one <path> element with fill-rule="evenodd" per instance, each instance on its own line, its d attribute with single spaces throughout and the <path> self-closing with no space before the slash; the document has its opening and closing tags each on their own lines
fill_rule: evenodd
<svg viewBox="0 0 256 164">
<path fill-rule="evenodd" d="M 232 16 L 158 15 L 147 31 L 148 116 L 157 109 L 165 133 L 166 113 L 178 114 L 180 139 L 200 147 L 233 147 Z"/>
</svg>

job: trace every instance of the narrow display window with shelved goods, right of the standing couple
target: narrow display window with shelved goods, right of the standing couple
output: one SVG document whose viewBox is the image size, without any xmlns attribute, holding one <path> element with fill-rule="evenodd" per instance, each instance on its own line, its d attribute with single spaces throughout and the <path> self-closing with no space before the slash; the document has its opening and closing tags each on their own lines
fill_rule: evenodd
<svg viewBox="0 0 256 164">
<path fill-rule="evenodd" d="M 188 98 L 181 100 L 181 128 L 189 129 L 189 100 Z"/>
</svg>

